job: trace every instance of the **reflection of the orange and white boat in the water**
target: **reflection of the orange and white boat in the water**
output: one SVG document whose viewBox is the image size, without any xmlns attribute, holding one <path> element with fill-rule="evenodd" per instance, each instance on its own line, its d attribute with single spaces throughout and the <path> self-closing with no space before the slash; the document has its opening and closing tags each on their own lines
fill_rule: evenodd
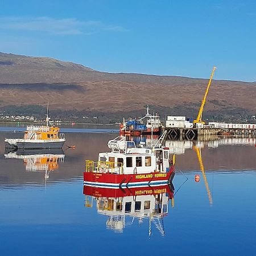
<svg viewBox="0 0 256 256">
<path fill-rule="evenodd" d="M 45 172 L 46 179 L 49 178 L 49 172 L 59 168 L 59 162 L 64 162 L 64 152 L 61 149 L 56 150 L 16 150 L 5 151 L 5 158 L 23 159 L 26 171 Z"/>
</svg>

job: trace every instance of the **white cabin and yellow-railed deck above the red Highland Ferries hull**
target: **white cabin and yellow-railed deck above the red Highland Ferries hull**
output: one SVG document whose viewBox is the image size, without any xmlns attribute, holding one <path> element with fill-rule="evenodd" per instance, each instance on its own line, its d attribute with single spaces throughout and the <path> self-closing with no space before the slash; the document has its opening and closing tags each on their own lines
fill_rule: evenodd
<svg viewBox="0 0 256 256">
<path fill-rule="evenodd" d="M 172 156 L 169 148 L 137 147 L 133 141 L 125 141 L 125 137 L 117 137 L 108 143 L 111 152 L 98 155 L 96 172 L 114 174 L 145 174 L 150 172 L 168 172 Z M 92 171 L 92 161 L 86 161 L 86 171 Z M 94 169 L 94 168 L 93 168 Z"/>
</svg>

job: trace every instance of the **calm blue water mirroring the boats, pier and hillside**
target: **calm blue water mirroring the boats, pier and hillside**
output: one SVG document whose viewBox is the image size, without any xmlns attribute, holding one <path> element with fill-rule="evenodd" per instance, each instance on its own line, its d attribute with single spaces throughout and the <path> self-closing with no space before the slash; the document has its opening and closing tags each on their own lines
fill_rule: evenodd
<svg viewBox="0 0 256 256">
<path fill-rule="evenodd" d="M 75 150 L 36 156 L 8 154 L 3 140 L 22 133 L 0 132 L 1 255 L 255 254 L 255 139 L 167 142 L 181 170 L 173 182 L 174 199 L 166 193 L 144 198 L 165 196 L 168 210 L 150 217 L 126 213 L 117 220 L 111 207 L 102 208 L 107 199 L 84 195 L 82 185 L 85 159 L 96 160 L 117 134 L 87 131 L 66 133 Z M 46 167 L 46 158 L 52 166 Z"/>
</svg>

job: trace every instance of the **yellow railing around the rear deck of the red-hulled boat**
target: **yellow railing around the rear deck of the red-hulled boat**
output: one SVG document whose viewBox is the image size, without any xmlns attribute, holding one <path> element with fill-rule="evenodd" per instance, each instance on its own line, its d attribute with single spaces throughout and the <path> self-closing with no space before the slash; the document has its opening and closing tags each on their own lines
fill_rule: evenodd
<svg viewBox="0 0 256 256">
<path fill-rule="evenodd" d="M 86 172 L 99 172 L 99 173 L 110 173 L 110 174 L 123 174 L 123 163 L 122 162 L 105 162 L 93 160 L 85 161 Z"/>
</svg>

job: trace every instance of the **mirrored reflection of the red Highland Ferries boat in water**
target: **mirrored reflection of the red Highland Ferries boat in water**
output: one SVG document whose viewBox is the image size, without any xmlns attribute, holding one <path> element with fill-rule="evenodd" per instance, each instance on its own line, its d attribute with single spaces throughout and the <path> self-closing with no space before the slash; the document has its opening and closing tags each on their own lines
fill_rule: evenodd
<svg viewBox="0 0 256 256">
<path fill-rule="evenodd" d="M 108 216 L 106 228 L 123 232 L 127 221 L 131 224 L 138 220 L 148 223 L 148 235 L 151 227 L 164 236 L 163 217 L 168 214 L 168 203 L 174 207 L 174 187 L 172 183 L 153 187 L 103 188 L 84 185 L 85 207 L 92 207 L 96 201 L 97 212 Z"/>
</svg>

